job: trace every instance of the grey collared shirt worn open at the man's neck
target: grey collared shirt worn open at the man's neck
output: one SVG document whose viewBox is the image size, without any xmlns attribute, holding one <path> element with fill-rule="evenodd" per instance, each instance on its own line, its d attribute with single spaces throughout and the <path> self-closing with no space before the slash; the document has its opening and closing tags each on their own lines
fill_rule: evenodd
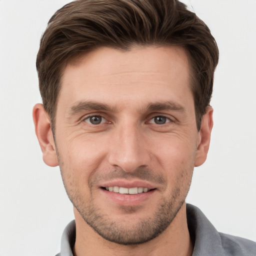
<svg viewBox="0 0 256 256">
<path fill-rule="evenodd" d="M 219 233 L 197 207 L 186 204 L 187 224 L 194 242 L 192 256 L 256 256 L 256 242 L 237 236 Z M 72 220 L 61 237 L 60 253 L 56 256 L 73 256 L 75 222 Z"/>
</svg>

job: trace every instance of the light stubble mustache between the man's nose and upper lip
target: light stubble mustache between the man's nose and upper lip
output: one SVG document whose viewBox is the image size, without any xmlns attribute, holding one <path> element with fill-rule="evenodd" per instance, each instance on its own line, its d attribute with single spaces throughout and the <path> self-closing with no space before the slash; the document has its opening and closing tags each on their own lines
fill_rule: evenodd
<svg viewBox="0 0 256 256">
<path fill-rule="evenodd" d="M 146 167 L 137 167 L 133 171 L 124 171 L 121 168 L 115 168 L 108 172 L 102 173 L 102 171 L 96 171 L 95 173 L 97 174 L 93 175 L 93 177 L 91 177 L 91 180 L 89 180 L 89 186 L 94 183 L 98 183 L 100 181 L 110 181 L 116 178 L 122 178 L 122 179 L 138 178 L 141 180 L 145 180 L 149 182 L 151 181 L 161 185 L 166 184 L 166 178 L 164 177 L 163 174 L 155 173 L 154 171 Z"/>
</svg>

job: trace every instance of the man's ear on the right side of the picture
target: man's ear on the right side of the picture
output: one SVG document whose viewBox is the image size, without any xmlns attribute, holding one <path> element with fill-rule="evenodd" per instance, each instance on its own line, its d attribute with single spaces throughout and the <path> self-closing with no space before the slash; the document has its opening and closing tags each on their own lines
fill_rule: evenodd
<svg viewBox="0 0 256 256">
<path fill-rule="evenodd" d="M 212 107 L 207 106 L 207 111 L 202 116 L 201 127 L 198 131 L 198 138 L 196 143 L 197 147 L 194 160 L 195 167 L 203 164 L 207 157 L 210 144 L 210 134 L 213 126 L 212 112 Z"/>
</svg>

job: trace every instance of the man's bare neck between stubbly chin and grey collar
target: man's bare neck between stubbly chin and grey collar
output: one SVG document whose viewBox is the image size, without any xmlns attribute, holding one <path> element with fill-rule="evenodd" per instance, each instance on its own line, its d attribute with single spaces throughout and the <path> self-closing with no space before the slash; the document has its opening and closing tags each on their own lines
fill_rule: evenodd
<svg viewBox="0 0 256 256">
<path fill-rule="evenodd" d="M 97 234 L 74 209 L 76 238 L 74 256 L 191 256 L 193 245 L 186 221 L 186 205 L 183 203 L 170 225 L 154 239 L 136 245 L 110 242 Z"/>
</svg>

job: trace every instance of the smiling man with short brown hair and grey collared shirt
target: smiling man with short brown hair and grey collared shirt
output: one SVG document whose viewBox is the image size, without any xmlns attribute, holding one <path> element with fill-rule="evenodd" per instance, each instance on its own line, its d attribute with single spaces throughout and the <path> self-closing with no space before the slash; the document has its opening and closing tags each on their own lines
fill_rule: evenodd
<svg viewBox="0 0 256 256">
<path fill-rule="evenodd" d="M 74 206 L 59 255 L 256 255 L 185 203 L 207 156 L 217 61 L 177 0 L 78 0 L 52 16 L 33 118 Z"/>
</svg>

